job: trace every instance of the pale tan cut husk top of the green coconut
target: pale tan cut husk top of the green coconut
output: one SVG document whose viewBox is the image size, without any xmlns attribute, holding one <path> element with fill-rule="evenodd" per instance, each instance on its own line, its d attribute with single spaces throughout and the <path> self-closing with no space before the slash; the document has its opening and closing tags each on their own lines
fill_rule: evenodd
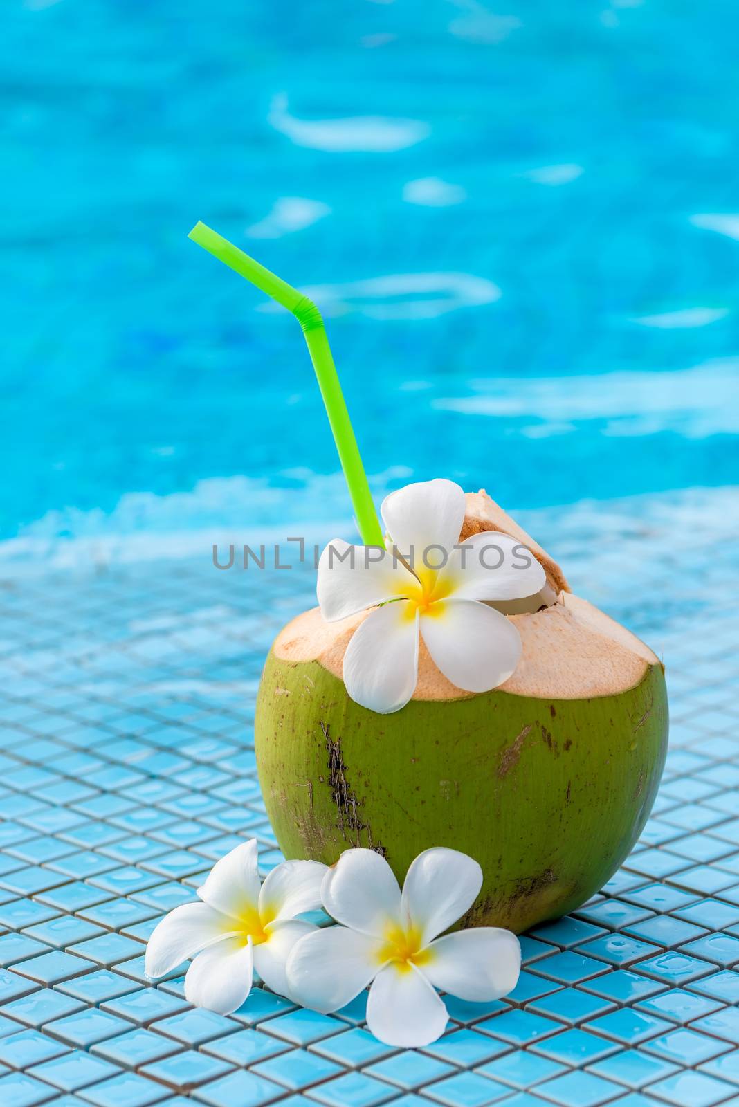
<svg viewBox="0 0 739 1107">
<path fill-rule="evenodd" d="M 518 526 L 483 490 L 468 493 L 461 540 L 482 530 L 499 530 L 523 542 L 541 562 L 556 602 L 542 610 L 509 614 L 523 644 L 521 661 L 502 692 L 551 700 L 617 695 L 638 684 L 659 659 L 635 634 L 586 600 L 573 596 L 556 561 Z M 552 592 L 552 594 L 553 594 Z M 278 634 L 275 655 L 298 663 L 318 661 L 342 679 L 344 652 L 368 611 L 325 622 L 319 608 L 305 611 Z M 469 699 L 431 661 L 421 637 L 414 700 Z"/>
</svg>

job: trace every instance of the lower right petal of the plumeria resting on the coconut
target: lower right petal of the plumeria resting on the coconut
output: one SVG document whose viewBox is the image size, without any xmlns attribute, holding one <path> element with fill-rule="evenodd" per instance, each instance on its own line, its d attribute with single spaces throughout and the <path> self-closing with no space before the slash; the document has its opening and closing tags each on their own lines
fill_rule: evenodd
<svg viewBox="0 0 739 1107">
<path fill-rule="evenodd" d="M 431 611 L 420 617 L 420 633 L 434 664 L 458 689 L 489 692 L 516 671 L 521 635 L 500 611 L 456 599 L 439 600 Z"/>
</svg>

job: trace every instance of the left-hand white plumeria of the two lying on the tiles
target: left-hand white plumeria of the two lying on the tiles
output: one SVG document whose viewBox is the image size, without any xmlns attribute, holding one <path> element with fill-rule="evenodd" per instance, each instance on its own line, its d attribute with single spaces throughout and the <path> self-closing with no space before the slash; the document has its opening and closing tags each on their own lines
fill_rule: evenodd
<svg viewBox="0 0 739 1107">
<path fill-rule="evenodd" d="M 256 840 L 237 846 L 198 888 L 201 902 L 176 907 L 154 929 L 146 975 L 164 976 L 195 958 L 185 976 L 185 997 L 221 1015 L 241 1006 L 254 969 L 268 987 L 285 995 L 288 954 L 315 930 L 295 915 L 321 907 L 325 872 L 318 861 L 284 861 L 261 884 Z"/>
</svg>

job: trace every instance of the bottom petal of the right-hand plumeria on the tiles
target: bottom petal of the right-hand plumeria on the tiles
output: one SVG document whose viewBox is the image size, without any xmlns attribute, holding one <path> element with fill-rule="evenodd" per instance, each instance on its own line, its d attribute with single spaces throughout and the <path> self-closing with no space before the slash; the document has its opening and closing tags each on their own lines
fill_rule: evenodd
<svg viewBox="0 0 739 1107">
<path fill-rule="evenodd" d="M 441 1037 L 447 1008 L 415 965 L 393 961 L 370 989 L 367 1028 L 387 1045 L 417 1048 Z"/>
</svg>

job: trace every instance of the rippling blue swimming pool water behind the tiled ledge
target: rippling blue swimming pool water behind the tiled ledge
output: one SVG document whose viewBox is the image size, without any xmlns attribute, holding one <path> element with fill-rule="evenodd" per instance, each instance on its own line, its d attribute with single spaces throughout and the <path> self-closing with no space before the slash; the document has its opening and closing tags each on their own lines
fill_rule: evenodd
<svg viewBox="0 0 739 1107">
<path fill-rule="evenodd" d="M 507 505 L 737 478 L 729 0 L 3 14 L 0 536 L 347 515 L 312 288 L 374 487 Z"/>
</svg>

